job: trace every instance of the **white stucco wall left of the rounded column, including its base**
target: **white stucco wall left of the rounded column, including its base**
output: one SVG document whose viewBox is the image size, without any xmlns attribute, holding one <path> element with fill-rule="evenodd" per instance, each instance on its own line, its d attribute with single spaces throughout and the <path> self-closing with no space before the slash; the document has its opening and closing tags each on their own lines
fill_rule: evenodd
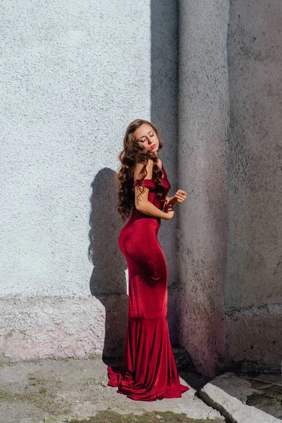
<svg viewBox="0 0 282 423">
<path fill-rule="evenodd" d="M 171 1 L 1 4 L 1 360 L 123 355 L 118 152 L 152 118 L 175 185 L 176 18 Z M 175 228 L 159 236 L 171 286 Z"/>
</svg>

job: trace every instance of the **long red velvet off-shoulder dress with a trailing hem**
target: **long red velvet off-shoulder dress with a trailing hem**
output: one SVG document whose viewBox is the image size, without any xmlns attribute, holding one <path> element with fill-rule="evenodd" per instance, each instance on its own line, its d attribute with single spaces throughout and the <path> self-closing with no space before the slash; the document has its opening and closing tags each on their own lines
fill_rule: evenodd
<svg viewBox="0 0 282 423">
<path fill-rule="evenodd" d="M 166 188 L 161 199 L 154 193 L 154 180 L 142 181 L 149 188 L 149 202 L 159 209 L 171 188 L 163 165 L 161 170 Z M 107 367 L 108 385 L 133 400 L 180 398 L 189 389 L 180 384 L 169 338 L 166 259 L 157 238 L 160 225 L 161 218 L 144 214 L 134 205 L 118 237 L 128 263 L 128 323 L 123 364 Z"/>
</svg>

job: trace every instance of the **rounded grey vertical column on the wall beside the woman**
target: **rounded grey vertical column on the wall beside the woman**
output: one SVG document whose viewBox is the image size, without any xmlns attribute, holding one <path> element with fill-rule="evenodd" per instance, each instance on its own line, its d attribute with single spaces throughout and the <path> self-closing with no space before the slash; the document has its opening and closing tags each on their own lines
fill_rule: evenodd
<svg viewBox="0 0 282 423">
<path fill-rule="evenodd" d="M 180 0 L 180 343 L 197 369 L 219 372 L 226 350 L 228 1 Z"/>
</svg>

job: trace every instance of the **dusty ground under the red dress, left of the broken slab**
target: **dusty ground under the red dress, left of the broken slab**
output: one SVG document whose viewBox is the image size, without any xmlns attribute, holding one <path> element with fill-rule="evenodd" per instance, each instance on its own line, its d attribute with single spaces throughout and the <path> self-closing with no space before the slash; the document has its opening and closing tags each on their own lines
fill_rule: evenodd
<svg viewBox="0 0 282 423">
<path fill-rule="evenodd" d="M 107 386 L 100 357 L 4 363 L 0 366 L 0 423 L 223 423 L 220 412 L 197 398 L 206 380 L 179 372 L 190 386 L 182 398 L 135 401 Z M 195 395 L 196 394 L 196 395 Z"/>
</svg>

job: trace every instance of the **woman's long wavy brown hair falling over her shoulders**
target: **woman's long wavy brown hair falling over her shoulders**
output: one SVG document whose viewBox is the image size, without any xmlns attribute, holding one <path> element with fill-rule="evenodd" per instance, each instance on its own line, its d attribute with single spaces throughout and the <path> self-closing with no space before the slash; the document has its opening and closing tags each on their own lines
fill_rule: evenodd
<svg viewBox="0 0 282 423">
<path fill-rule="evenodd" d="M 142 186 L 142 180 L 147 176 L 146 166 L 149 159 L 152 159 L 153 163 L 153 174 L 152 179 L 154 180 L 155 188 L 154 192 L 157 197 L 161 197 L 164 192 L 164 185 L 161 183 L 162 172 L 157 165 L 158 157 L 155 152 L 150 152 L 145 149 L 142 145 L 133 137 L 133 133 L 137 128 L 139 128 L 143 123 L 148 123 L 152 126 L 153 130 L 159 138 L 159 131 L 155 125 L 149 121 L 143 119 L 135 119 L 131 122 L 126 128 L 125 135 L 123 138 L 123 150 L 118 154 L 118 159 L 121 161 L 121 166 L 118 170 L 118 203 L 116 209 L 118 214 L 121 216 L 121 219 L 125 221 L 130 216 L 130 212 L 133 209 L 133 204 L 135 202 L 135 192 L 133 189 L 134 182 L 134 166 L 137 163 L 144 164 L 140 174 L 142 178 L 139 181 L 138 185 Z M 163 142 L 159 139 L 159 149 L 163 147 Z M 140 195 L 145 191 L 145 187 L 142 186 Z"/>
</svg>

